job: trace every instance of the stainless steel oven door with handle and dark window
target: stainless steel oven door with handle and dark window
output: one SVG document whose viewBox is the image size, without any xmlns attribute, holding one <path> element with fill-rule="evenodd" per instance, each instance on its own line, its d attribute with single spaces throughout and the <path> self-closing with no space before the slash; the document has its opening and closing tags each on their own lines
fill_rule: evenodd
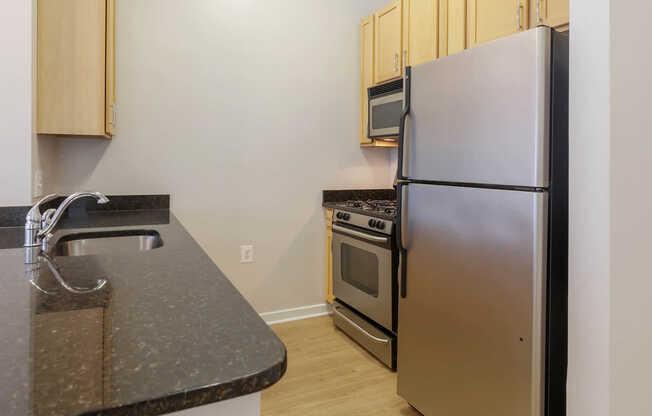
<svg viewBox="0 0 652 416">
<path fill-rule="evenodd" d="M 389 236 L 333 225 L 333 294 L 392 329 L 392 250 Z"/>
</svg>

